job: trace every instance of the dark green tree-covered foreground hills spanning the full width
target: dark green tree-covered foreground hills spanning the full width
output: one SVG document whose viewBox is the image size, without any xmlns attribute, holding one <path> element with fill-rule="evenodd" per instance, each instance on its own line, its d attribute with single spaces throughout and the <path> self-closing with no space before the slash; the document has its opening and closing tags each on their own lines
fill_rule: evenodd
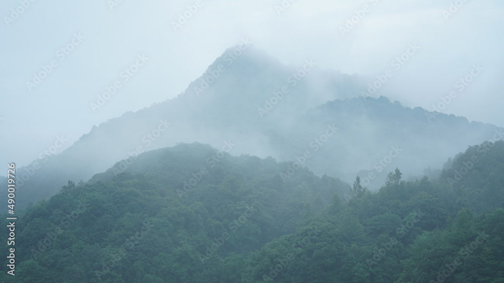
<svg viewBox="0 0 504 283">
<path fill-rule="evenodd" d="M 284 182 L 292 163 L 223 150 L 180 144 L 69 181 L 17 221 L 14 281 L 503 282 L 502 141 L 439 180 L 396 169 L 377 193 L 302 168 Z"/>
</svg>

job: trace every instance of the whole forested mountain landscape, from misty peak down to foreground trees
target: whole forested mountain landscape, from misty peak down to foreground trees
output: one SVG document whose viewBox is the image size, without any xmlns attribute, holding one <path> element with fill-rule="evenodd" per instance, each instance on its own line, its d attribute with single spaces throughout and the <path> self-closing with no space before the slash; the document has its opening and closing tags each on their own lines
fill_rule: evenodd
<svg viewBox="0 0 504 283">
<path fill-rule="evenodd" d="M 19 168 L 0 280 L 504 282 L 502 128 L 236 48 Z"/>
</svg>

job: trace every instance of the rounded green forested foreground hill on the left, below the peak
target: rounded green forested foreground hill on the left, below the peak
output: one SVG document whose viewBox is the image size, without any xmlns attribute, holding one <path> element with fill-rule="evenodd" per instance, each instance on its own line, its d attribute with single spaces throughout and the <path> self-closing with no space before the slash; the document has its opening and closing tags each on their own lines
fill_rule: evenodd
<svg viewBox="0 0 504 283">
<path fill-rule="evenodd" d="M 286 167 L 272 158 L 233 157 L 195 143 L 141 154 L 117 176 L 110 169 L 82 186 L 68 182 L 19 217 L 15 279 L 236 282 L 233 262 L 221 263 L 219 257 L 246 254 L 295 232 L 305 214 L 329 206 L 335 193 L 348 192 L 348 184 L 306 169 L 284 183 L 279 172 Z M 184 188 L 185 183 L 192 187 Z M 188 270 L 183 258 L 199 266 Z M 56 261 L 52 271 L 47 269 Z M 150 269 L 147 262 L 168 273 L 159 277 L 136 270 Z M 204 271 L 203 264 L 216 263 L 229 272 Z M 11 276 L 5 270 L 2 279 Z"/>
</svg>

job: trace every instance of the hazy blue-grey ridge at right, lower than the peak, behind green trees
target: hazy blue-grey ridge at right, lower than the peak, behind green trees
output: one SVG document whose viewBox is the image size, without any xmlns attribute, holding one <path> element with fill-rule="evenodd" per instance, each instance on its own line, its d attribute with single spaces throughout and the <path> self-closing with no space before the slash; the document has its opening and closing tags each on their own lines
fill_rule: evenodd
<svg viewBox="0 0 504 283">
<path fill-rule="evenodd" d="M 387 172 L 396 167 L 407 176 L 418 176 L 429 166 L 441 169 L 449 157 L 468 146 L 504 138 L 502 128 L 494 125 L 440 113 L 427 119 L 427 114 L 432 115 L 383 96 L 337 99 L 310 109 L 291 127 L 274 128 L 272 136 L 277 138 L 271 143 L 281 160 L 293 160 L 302 149 L 322 144 L 306 162 L 314 173 L 347 182 L 359 173 L 367 177 L 369 188 L 379 189 Z M 335 135 L 325 143 L 310 144 L 321 138 L 328 124 L 338 128 Z"/>
</svg>

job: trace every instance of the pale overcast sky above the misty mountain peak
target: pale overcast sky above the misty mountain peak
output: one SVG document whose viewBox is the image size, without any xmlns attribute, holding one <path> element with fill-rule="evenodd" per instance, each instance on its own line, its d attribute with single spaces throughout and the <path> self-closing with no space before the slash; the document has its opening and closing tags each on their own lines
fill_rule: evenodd
<svg viewBox="0 0 504 283">
<path fill-rule="evenodd" d="M 287 0 L 115 1 L 0 3 L 2 164 L 27 165 L 51 146 L 59 153 L 93 125 L 178 95 L 243 38 L 285 64 L 311 58 L 369 78 L 390 69 L 393 77 L 376 94 L 409 107 L 432 110 L 456 91 L 442 112 L 504 126 L 501 0 L 298 0 L 285 10 Z M 175 31 L 179 14 L 196 4 Z M 352 17 L 356 24 L 345 27 Z M 397 69 L 393 60 L 410 44 L 419 48 Z M 35 84 L 34 73 L 51 62 Z M 136 62 L 138 72 L 93 111 L 97 96 Z M 460 91 L 456 82 L 471 72 L 478 76 Z"/>
</svg>

